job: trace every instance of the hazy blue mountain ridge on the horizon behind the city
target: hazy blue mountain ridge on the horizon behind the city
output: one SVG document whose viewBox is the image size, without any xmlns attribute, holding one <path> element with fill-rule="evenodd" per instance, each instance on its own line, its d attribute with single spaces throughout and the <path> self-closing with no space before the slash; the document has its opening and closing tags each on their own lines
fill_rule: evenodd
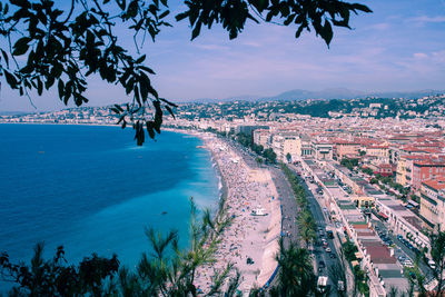
<svg viewBox="0 0 445 297">
<path fill-rule="evenodd" d="M 237 100 L 244 100 L 244 101 L 291 101 L 291 100 L 307 100 L 307 99 L 329 100 L 329 99 L 360 99 L 368 97 L 416 99 L 416 98 L 422 98 L 424 96 L 431 96 L 444 92 L 445 92 L 444 90 L 365 92 L 358 90 L 349 90 L 346 88 L 329 88 L 320 91 L 295 89 L 281 92 L 277 96 L 269 96 L 269 97 L 248 95 L 248 96 L 236 96 L 225 99 L 198 99 L 195 100 L 194 102 L 230 102 Z"/>
</svg>

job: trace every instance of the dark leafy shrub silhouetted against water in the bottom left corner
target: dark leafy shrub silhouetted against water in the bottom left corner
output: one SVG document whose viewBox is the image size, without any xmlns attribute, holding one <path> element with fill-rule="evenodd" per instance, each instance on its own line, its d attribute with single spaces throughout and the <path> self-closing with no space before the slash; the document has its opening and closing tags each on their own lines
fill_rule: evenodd
<svg viewBox="0 0 445 297">
<path fill-rule="evenodd" d="M 8 254 L 0 255 L 0 276 L 18 285 L 11 289 L 11 295 L 103 296 L 103 284 L 119 269 L 116 255 L 108 259 L 93 254 L 78 266 L 67 266 L 63 247 L 59 247 L 50 260 L 44 260 L 42 253 L 43 244 L 37 244 L 30 266 L 12 264 Z"/>
</svg>

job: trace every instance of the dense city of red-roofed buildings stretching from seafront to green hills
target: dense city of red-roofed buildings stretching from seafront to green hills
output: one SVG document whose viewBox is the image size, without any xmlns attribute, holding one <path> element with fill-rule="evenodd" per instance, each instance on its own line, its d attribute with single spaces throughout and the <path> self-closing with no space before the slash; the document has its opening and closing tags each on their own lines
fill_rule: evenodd
<svg viewBox="0 0 445 297">
<path fill-rule="evenodd" d="M 319 275 L 339 257 L 350 264 L 346 278 L 356 266 L 366 274 L 369 296 L 405 291 L 421 277 L 427 290 L 437 286 L 428 235 L 445 230 L 445 95 L 184 103 L 175 113 L 164 127 L 216 135 L 257 166 L 286 164 L 307 184 L 322 209 L 318 217 L 312 210 Z M 101 107 L 0 121 L 115 125 L 117 117 Z M 346 279 L 333 278 L 344 290 Z"/>
</svg>

